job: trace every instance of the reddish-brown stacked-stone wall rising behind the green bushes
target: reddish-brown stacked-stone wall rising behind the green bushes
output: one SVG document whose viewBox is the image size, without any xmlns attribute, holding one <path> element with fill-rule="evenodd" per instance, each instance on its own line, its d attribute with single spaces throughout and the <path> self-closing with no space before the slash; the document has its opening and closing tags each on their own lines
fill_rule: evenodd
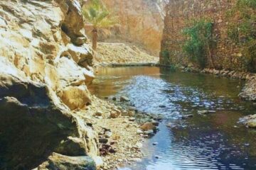
<svg viewBox="0 0 256 170">
<path fill-rule="evenodd" d="M 182 52 L 186 38 L 181 30 L 189 26 L 189 21 L 210 18 L 214 23 L 213 36 L 216 39 L 213 50 L 215 68 L 243 71 L 241 49 L 228 38 L 229 21 L 226 16 L 235 2 L 235 0 L 170 0 L 166 6 L 160 63 L 188 65 L 188 56 Z"/>
</svg>

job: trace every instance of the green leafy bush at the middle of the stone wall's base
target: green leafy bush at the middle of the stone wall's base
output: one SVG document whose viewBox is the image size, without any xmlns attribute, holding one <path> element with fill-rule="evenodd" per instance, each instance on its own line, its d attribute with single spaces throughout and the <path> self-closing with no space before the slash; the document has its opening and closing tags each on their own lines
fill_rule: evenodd
<svg viewBox="0 0 256 170">
<path fill-rule="evenodd" d="M 207 20 L 193 21 L 190 27 L 182 30 L 182 33 L 187 37 L 183 51 L 191 62 L 196 62 L 201 68 L 206 67 L 208 57 L 212 59 L 211 51 L 215 45 L 213 23 Z"/>
</svg>

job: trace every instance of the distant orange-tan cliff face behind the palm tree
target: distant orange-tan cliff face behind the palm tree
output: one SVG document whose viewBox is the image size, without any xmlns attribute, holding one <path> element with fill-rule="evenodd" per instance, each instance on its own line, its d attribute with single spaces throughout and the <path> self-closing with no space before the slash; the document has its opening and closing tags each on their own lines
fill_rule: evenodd
<svg viewBox="0 0 256 170">
<path fill-rule="evenodd" d="M 120 26 L 100 36 L 103 41 L 133 42 L 158 56 L 166 0 L 103 0 L 119 17 Z"/>
</svg>

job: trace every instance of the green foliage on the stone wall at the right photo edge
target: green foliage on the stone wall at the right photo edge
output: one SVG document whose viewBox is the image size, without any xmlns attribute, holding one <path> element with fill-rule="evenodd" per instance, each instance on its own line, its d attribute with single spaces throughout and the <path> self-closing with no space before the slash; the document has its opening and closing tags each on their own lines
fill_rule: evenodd
<svg viewBox="0 0 256 170">
<path fill-rule="evenodd" d="M 228 20 L 228 37 L 242 49 L 245 69 L 256 72 L 256 1 L 238 0 Z"/>
</svg>

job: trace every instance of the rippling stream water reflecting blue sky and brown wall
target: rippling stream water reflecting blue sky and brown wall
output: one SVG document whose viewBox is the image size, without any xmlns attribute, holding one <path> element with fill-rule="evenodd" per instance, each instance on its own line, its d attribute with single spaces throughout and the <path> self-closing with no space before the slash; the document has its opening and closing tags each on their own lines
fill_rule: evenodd
<svg viewBox="0 0 256 170">
<path fill-rule="evenodd" d="M 127 169 L 256 169 L 256 130 L 238 123 L 256 113 L 253 103 L 238 98 L 244 83 L 158 67 L 117 67 L 100 69 L 90 90 L 100 97 L 128 96 L 139 111 L 166 116 L 144 143 L 145 159 Z M 216 113 L 203 116 L 198 110 Z M 188 114 L 193 118 L 181 119 Z"/>
</svg>

